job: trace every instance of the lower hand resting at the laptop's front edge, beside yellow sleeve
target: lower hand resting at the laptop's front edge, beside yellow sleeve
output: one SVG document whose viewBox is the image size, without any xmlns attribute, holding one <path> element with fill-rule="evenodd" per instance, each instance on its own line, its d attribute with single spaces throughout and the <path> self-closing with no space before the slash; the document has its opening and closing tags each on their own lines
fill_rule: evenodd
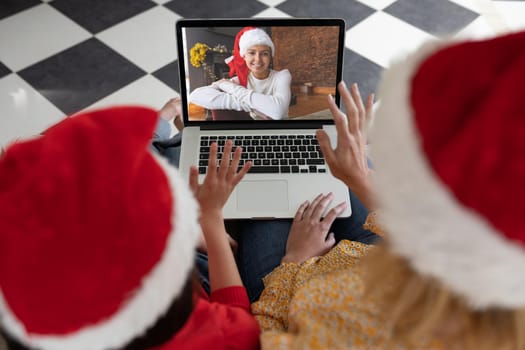
<svg viewBox="0 0 525 350">
<path fill-rule="evenodd" d="M 337 216 L 345 210 L 346 202 L 333 207 L 323 217 L 332 199 L 332 193 L 320 194 L 312 203 L 306 201 L 301 204 L 290 228 L 283 263 L 300 264 L 314 256 L 324 255 L 334 246 L 334 234 L 328 233 L 328 230 Z"/>
</svg>

